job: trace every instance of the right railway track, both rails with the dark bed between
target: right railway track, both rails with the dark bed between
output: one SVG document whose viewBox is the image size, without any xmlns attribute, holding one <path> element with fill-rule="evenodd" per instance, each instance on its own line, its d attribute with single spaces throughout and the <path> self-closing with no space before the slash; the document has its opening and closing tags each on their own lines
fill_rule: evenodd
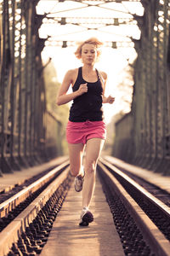
<svg viewBox="0 0 170 256">
<path fill-rule="evenodd" d="M 170 255 L 170 208 L 107 160 L 99 160 L 99 175 L 125 254 Z M 114 208 L 115 196 L 127 209 L 123 216 Z"/>
</svg>

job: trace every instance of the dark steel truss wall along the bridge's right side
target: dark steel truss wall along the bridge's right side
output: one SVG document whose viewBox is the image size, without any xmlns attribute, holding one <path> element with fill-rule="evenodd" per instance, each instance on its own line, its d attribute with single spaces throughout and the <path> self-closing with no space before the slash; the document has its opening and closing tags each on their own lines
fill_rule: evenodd
<svg viewBox="0 0 170 256">
<path fill-rule="evenodd" d="M 133 66 L 132 111 L 116 124 L 113 154 L 170 174 L 170 6 L 168 0 L 141 3 L 144 16 L 137 19 L 141 38 L 134 42 L 138 58 Z"/>
</svg>

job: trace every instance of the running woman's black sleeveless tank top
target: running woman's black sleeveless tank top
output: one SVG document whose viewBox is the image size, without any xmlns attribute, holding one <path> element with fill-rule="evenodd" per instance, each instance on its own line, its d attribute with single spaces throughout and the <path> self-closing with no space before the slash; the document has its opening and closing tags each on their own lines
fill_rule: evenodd
<svg viewBox="0 0 170 256">
<path fill-rule="evenodd" d="M 103 87 L 99 76 L 99 71 L 96 69 L 98 80 L 94 83 L 88 83 L 88 92 L 77 96 L 73 100 L 70 109 L 69 120 L 71 122 L 101 121 L 103 119 L 102 110 L 102 93 Z M 80 84 L 85 84 L 87 81 L 82 79 L 82 67 L 78 69 L 77 80 L 72 87 L 73 91 L 78 90 Z"/>
</svg>

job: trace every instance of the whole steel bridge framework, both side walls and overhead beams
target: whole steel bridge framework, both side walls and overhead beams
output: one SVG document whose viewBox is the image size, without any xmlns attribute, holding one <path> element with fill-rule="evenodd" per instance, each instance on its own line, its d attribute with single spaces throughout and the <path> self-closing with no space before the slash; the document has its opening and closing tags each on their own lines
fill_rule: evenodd
<svg viewBox="0 0 170 256">
<path fill-rule="evenodd" d="M 116 122 L 112 154 L 156 172 L 170 173 L 170 3 L 169 0 L 48 1 L 0 0 L 0 174 L 36 166 L 63 154 L 64 127 L 48 111 L 42 50 L 75 44 L 77 32 L 110 33 L 105 47 L 133 47 L 131 111 Z M 69 6 L 69 4 L 74 6 Z M 144 9 L 132 12 L 133 4 Z M 77 6 L 76 6 L 77 4 Z M 111 6 L 113 4 L 113 6 Z M 123 6 L 123 10 L 121 9 Z M 95 8 L 99 16 L 91 15 Z M 86 15 L 78 15 L 84 9 Z M 89 9 L 89 13 L 88 13 Z M 105 15 L 105 11 L 109 15 Z M 138 26 L 140 37 L 115 37 L 114 28 Z M 42 26 L 56 26 L 41 37 Z M 108 31 L 109 30 L 109 31 Z M 126 30 L 126 28 L 125 28 Z"/>
</svg>

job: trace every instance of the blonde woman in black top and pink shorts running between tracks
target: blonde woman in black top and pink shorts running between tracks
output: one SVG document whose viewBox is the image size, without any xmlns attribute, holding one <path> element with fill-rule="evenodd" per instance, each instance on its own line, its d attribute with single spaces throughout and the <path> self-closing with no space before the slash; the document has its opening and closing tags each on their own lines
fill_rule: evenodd
<svg viewBox="0 0 170 256">
<path fill-rule="evenodd" d="M 94 194 L 95 171 L 99 154 L 105 142 L 106 129 L 102 110 L 103 103 L 112 104 L 114 97 L 105 97 L 107 75 L 94 65 L 100 55 L 102 43 L 90 38 L 79 44 L 75 55 L 82 60 L 82 67 L 65 74 L 57 97 L 57 104 L 73 101 L 66 127 L 71 175 L 75 178 L 75 189 L 82 190 L 82 213 L 80 225 L 88 226 L 94 220 L 89 211 Z M 72 92 L 67 93 L 69 87 Z M 84 166 L 82 154 L 86 146 Z M 82 186 L 83 184 L 83 186 Z"/>
</svg>

